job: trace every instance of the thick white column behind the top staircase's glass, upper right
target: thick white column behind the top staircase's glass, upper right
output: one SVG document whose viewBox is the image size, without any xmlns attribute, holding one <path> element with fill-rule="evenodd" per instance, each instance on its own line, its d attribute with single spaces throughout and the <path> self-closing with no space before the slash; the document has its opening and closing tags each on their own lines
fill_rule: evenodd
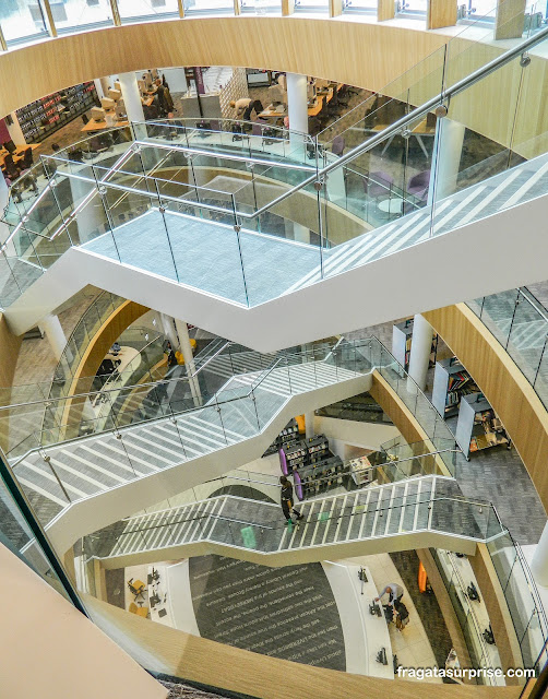
<svg viewBox="0 0 548 699">
<path fill-rule="evenodd" d="M 463 152 L 464 125 L 453 119 L 438 119 L 433 141 L 428 204 L 444 199 L 456 190 L 456 178 Z"/>
</svg>

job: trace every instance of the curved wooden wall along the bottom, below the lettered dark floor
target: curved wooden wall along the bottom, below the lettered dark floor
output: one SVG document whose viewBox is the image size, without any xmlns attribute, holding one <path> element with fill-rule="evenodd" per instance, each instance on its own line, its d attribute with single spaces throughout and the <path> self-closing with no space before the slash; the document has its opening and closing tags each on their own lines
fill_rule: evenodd
<svg viewBox="0 0 548 699">
<path fill-rule="evenodd" d="M 83 595 L 92 619 L 148 670 L 263 699 L 517 699 L 521 687 L 379 679 L 260 655 L 141 619 Z"/>
</svg>

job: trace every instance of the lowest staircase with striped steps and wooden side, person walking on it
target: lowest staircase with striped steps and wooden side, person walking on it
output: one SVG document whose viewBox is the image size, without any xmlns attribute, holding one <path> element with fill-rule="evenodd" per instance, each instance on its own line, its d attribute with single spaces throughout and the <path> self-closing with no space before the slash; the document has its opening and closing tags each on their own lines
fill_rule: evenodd
<svg viewBox="0 0 548 699">
<path fill-rule="evenodd" d="M 345 552 L 366 555 L 437 541 L 470 553 L 476 541 L 503 531 L 488 532 L 489 505 L 463 499 L 456 483 L 444 476 L 369 486 L 296 507 L 303 519 L 287 525 L 277 503 L 212 497 L 129 518 L 86 537 L 84 547 L 109 568 L 204 553 L 282 566 L 324 560 L 334 547 L 342 557 L 349 555 Z"/>
</svg>

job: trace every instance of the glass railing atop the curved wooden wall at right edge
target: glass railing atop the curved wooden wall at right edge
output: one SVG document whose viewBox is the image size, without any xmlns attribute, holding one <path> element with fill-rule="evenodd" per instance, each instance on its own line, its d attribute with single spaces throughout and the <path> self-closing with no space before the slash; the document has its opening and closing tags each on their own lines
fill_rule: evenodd
<svg viewBox="0 0 548 699">
<path fill-rule="evenodd" d="M 468 301 L 548 408 L 548 311 L 525 287 Z"/>
</svg>

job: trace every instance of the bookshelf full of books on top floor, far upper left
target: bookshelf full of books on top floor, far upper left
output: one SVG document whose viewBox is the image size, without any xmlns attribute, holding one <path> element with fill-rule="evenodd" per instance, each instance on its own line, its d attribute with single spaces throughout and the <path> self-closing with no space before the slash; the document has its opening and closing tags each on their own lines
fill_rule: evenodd
<svg viewBox="0 0 548 699">
<path fill-rule="evenodd" d="M 73 85 L 16 110 L 26 143 L 46 139 L 98 104 L 93 82 Z"/>
</svg>

